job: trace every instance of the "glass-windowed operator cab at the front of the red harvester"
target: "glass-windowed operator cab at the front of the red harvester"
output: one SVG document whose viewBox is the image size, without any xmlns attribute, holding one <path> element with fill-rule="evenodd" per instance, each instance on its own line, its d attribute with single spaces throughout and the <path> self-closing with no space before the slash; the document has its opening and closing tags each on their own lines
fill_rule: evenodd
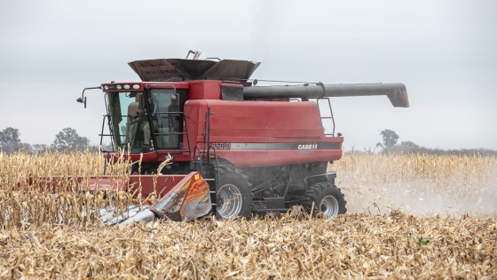
<svg viewBox="0 0 497 280">
<path fill-rule="evenodd" d="M 181 149 L 185 90 L 168 88 L 137 92 L 106 92 L 114 151 L 131 154 Z M 105 125 L 105 124 L 104 124 Z"/>
</svg>

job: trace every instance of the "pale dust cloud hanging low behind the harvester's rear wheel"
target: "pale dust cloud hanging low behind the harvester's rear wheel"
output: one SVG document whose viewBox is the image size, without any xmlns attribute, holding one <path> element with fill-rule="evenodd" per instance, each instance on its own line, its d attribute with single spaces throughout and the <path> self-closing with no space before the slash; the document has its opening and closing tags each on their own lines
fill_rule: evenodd
<svg viewBox="0 0 497 280">
<path fill-rule="evenodd" d="M 369 165 L 371 166 L 371 165 Z M 497 170 L 493 165 L 477 168 L 477 172 L 447 172 L 443 178 L 402 178 L 383 182 L 385 169 L 376 178 L 361 166 L 354 172 L 337 172 L 336 185 L 347 201 L 347 212 L 384 214 L 400 210 L 414 216 L 442 215 L 460 218 L 465 214 L 476 218 L 497 216 Z M 338 168 L 341 169 L 341 168 Z"/>
</svg>

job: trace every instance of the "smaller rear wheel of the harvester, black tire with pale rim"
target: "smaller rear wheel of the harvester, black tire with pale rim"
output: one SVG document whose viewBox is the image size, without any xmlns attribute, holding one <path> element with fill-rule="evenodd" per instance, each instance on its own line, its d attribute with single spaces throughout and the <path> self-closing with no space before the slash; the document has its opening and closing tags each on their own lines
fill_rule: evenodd
<svg viewBox="0 0 497 280">
<path fill-rule="evenodd" d="M 314 204 L 313 213 L 321 212 L 327 219 L 335 218 L 336 215 L 347 212 L 347 208 L 345 208 L 347 202 L 342 191 L 328 182 L 317 183 L 308 188 L 301 204 L 308 213 L 311 213 L 312 204 Z"/>
</svg>

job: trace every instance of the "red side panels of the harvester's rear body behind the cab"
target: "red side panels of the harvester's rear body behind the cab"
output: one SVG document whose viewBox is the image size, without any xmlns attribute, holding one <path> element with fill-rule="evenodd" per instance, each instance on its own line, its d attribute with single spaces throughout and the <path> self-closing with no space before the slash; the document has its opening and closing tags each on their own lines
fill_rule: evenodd
<svg viewBox="0 0 497 280">
<path fill-rule="evenodd" d="M 334 161 L 343 137 L 325 137 L 314 102 L 189 100 L 185 104 L 190 146 L 202 144 L 203 116 L 210 116 L 211 143 L 336 143 L 312 151 L 267 149 L 217 151 L 239 167 Z"/>
</svg>

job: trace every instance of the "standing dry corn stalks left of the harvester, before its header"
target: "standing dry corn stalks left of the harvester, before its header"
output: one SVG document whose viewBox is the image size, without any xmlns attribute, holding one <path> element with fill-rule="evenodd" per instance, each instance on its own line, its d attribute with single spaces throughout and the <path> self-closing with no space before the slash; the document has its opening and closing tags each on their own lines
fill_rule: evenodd
<svg viewBox="0 0 497 280">
<path fill-rule="evenodd" d="M 5 155 L 0 153 L 0 225 L 2 228 L 35 224 L 88 224 L 99 220 L 100 207 L 116 204 L 122 212 L 130 204 L 126 190 L 88 192 L 91 176 L 103 175 L 105 161 L 98 153 Z M 111 180 L 126 180 L 130 164 L 120 157 L 107 164 Z M 75 182 L 74 176 L 83 178 Z M 47 189 L 52 177 L 61 178 Z M 29 184 L 32 178 L 41 185 Z M 55 193 L 56 195 L 52 195 Z M 62 209 L 62 211 L 61 211 Z"/>
</svg>

